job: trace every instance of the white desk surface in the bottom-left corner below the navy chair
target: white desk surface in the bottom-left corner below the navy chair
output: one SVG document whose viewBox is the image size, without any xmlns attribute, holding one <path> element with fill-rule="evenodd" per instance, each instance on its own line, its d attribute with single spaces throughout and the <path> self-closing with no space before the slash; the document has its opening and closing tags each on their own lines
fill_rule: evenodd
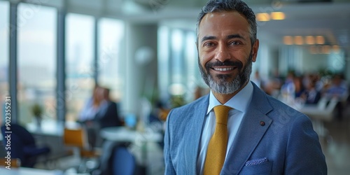
<svg viewBox="0 0 350 175">
<path fill-rule="evenodd" d="M 45 169 L 34 169 L 27 167 L 18 167 L 6 169 L 0 167 L 0 174 L 6 175 L 62 175 L 63 172 L 60 170 L 45 170 Z"/>
</svg>

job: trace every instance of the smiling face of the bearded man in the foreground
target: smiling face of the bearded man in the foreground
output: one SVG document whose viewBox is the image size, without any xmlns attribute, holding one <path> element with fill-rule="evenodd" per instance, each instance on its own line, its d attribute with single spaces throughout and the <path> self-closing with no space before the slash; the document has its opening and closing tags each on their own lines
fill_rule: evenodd
<svg viewBox="0 0 350 175">
<path fill-rule="evenodd" d="M 208 13 L 198 30 L 198 56 L 204 81 L 220 94 L 233 94 L 245 85 L 256 60 L 246 18 L 237 12 Z"/>
</svg>

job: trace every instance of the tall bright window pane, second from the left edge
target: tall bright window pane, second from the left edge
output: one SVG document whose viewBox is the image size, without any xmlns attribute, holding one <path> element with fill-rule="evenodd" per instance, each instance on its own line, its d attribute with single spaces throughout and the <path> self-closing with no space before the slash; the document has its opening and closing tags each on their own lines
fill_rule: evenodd
<svg viewBox="0 0 350 175">
<path fill-rule="evenodd" d="M 43 118 L 56 120 L 57 10 L 37 4 L 18 6 L 19 122 L 31 123 L 34 104 Z"/>
</svg>

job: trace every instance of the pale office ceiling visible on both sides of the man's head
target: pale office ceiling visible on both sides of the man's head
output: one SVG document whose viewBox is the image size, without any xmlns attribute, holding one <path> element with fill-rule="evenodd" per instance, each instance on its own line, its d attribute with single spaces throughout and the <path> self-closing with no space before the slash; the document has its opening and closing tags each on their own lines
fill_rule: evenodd
<svg viewBox="0 0 350 175">
<path fill-rule="evenodd" d="M 350 55 L 350 0 L 322 3 L 297 3 L 297 1 L 317 0 L 246 0 L 255 13 L 272 11 L 286 13 L 286 20 L 258 22 L 260 40 L 281 44 L 285 35 L 322 35 L 325 36 L 326 44 L 339 45 L 348 50 Z M 72 13 L 119 18 L 129 22 L 171 22 L 173 25 L 195 29 L 197 14 L 207 0 L 28 0 L 28 2 L 47 3 L 48 6 L 62 8 Z"/>
</svg>

